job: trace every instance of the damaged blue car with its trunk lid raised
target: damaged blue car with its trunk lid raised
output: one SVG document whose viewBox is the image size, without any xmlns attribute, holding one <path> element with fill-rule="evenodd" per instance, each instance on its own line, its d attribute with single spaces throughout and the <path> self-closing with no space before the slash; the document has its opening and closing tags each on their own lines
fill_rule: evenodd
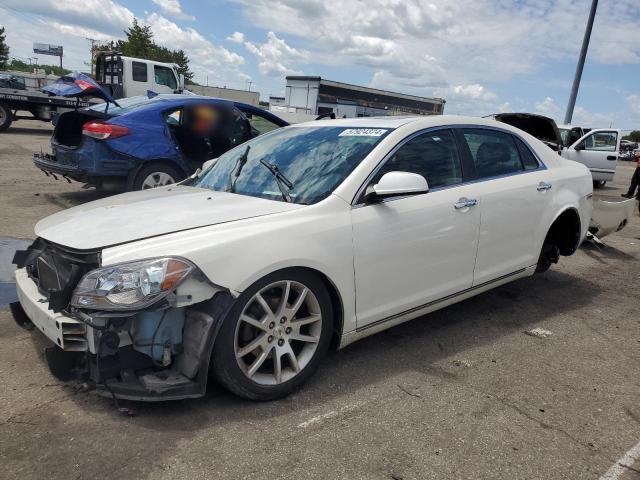
<svg viewBox="0 0 640 480">
<path fill-rule="evenodd" d="M 288 125 L 241 102 L 186 94 L 117 102 L 90 77 L 75 74 L 45 87 L 54 95 L 105 100 L 59 115 L 52 154 L 34 155 L 47 175 L 110 190 L 143 190 L 178 182 L 203 162 Z"/>
</svg>

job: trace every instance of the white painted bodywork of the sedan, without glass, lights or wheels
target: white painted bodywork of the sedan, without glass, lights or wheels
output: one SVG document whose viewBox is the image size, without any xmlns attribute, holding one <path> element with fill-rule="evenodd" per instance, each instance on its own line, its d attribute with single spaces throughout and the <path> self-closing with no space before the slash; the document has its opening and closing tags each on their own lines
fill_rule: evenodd
<svg viewBox="0 0 640 480">
<path fill-rule="evenodd" d="M 588 169 L 504 123 L 434 116 L 303 125 L 395 130 L 332 195 L 314 205 L 174 186 L 61 212 L 40 222 L 37 234 L 74 248 L 102 248 L 103 265 L 183 257 L 235 295 L 276 270 L 315 269 L 341 299 L 343 345 L 531 274 L 533 268 L 527 267 L 535 264 L 550 225 L 566 209 L 580 214 L 581 239 L 586 234 L 592 194 Z M 456 125 L 513 132 L 536 151 L 546 169 L 380 205 L 354 205 L 367 177 L 399 142 L 426 128 Z M 539 181 L 553 187 L 538 192 Z M 456 210 L 453 204 L 461 197 L 479 203 Z"/>
</svg>

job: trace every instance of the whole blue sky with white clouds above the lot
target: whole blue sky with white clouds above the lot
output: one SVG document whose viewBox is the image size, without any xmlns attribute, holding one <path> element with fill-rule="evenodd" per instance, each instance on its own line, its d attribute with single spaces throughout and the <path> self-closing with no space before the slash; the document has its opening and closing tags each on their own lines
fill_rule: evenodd
<svg viewBox="0 0 640 480">
<path fill-rule="evenodd" d="M 600 0 L 573 124 L 640 129 L 640 0 Z M 445 113 L 564 119 L 591 0 L 0 0 L 11 55 L 89 41 L 135 17 L 201 84 L 284 95 L 286 75 L 446 99 Z M 57 64 L 38 55 L 38 63 Z"/>
</svg>

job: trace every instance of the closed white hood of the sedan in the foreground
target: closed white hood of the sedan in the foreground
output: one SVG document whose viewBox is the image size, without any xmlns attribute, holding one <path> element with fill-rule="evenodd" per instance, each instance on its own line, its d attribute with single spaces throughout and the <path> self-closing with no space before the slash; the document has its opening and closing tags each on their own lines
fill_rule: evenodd
<svg viewBox="0 0 640 480">
<path fill-rule="evenodd" d="M 39 221 L 35 231 L 59 245 L 91 250 L 298 208 L 304 205 L 173 185 L 63 210 Z"/>
</svg>

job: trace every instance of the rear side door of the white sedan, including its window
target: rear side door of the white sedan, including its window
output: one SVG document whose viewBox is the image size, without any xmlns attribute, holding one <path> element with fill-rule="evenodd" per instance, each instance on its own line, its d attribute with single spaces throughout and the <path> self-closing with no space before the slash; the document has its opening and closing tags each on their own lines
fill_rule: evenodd
<svg viewBox="0 0 640 480">
<path fill-rule="evenodd" d="M 550 171 L 519 137 L 485 128 L 459 131 L 477 174 L 472 195 L 481 222 L 473 284 L 479 285 L 537 263 L 553 185 Z"/>
</svg>

